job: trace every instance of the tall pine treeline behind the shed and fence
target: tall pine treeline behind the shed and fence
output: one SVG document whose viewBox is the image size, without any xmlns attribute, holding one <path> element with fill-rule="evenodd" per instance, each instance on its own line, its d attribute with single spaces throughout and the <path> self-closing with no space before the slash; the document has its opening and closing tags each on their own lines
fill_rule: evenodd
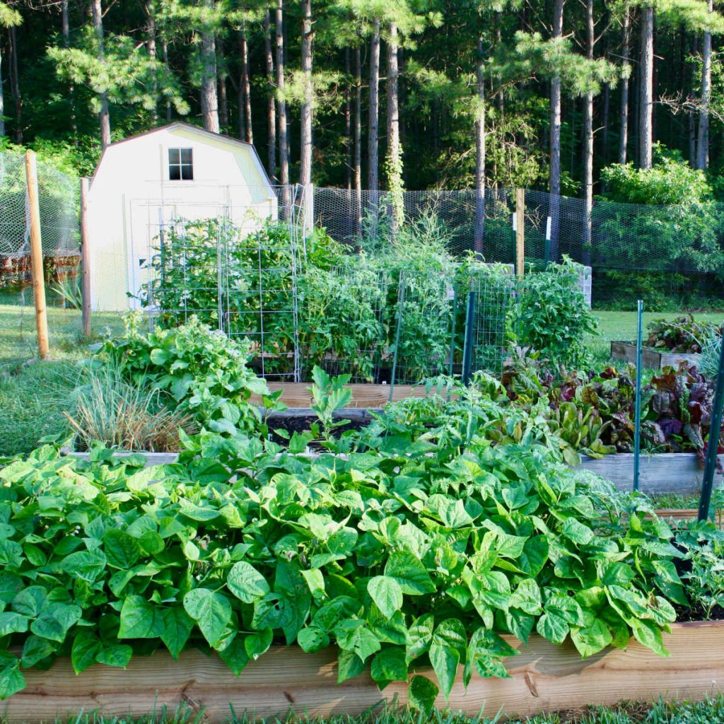
<svg viewBox="0 0 724 724">
<path fill-rule="evenodd" d="M 0 25 L 0 135 L 82 173 L 182 118 L 281 183 L 589 200 L 661 143 L 719 188 L 712 0 L 16 0 Z"/>
</svg>

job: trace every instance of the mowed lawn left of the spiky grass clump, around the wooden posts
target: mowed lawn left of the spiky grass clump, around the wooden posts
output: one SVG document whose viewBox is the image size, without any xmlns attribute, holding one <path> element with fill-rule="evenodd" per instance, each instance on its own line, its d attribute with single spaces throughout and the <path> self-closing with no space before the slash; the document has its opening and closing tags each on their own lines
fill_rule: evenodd
<svg viewBox="0 0 724 724">
<path fill-rule="evenodd" d="M 94 335 L 122 326 L 117 314 L 93 316 Z M 81 335 L 80 311 L 49 308 L 48 328 L 50 359 L 41 362 L 33 306 L 0 303 L 0 455 L 29 452 L 43 437 L 67 432 L 62 400 L 75 387 L 89 342 Z"/>
</svg>

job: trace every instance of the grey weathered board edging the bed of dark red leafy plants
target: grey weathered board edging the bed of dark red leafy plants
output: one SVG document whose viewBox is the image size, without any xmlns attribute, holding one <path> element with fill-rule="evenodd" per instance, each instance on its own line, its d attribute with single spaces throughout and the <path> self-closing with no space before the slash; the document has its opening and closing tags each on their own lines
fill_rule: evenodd
<svg viewBox="0 0 724 724">
<path fill-rule="evenodd" d="M 724 455 L 719 456 L 724 462 Z M 581 455 L 581 467 L 613 481 L 620 490 L 633 489 L 633 452 L 619 452 L 605 458 Z M 704 471 L 693 452 L 657 452 L 641 454 L 639 487 L 644 493 L 697 493 Z M 722 482 L 717 475 L 715 485 Z"/>
</svg>

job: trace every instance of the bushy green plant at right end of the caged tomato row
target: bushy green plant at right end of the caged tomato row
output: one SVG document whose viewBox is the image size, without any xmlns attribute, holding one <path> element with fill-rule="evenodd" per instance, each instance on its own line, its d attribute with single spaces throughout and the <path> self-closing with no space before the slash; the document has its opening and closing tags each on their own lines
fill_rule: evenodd
<svg viewBox="0 0 724 724">
<path fill-rule="evenodd" d="M 509 311 L 516 345 L 569 369 L 589 361 L 586 341 L 598 328 L 579 286 L 580 274 L 581 266 L 568 258 L 527 274 Z"/>
</svg>

